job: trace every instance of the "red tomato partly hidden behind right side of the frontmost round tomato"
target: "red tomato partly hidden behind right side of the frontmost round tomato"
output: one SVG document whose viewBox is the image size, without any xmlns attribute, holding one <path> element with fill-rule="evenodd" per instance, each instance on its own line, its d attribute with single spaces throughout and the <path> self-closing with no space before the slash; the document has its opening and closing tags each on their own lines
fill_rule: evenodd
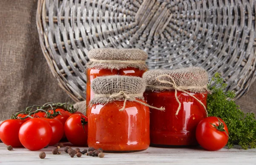
<svg viewBox="0 0 256 165">
<path fill-rule="evenodd" d="M 59 120 L 55 120 L 55 119 L 47 119 L 47 118 L 41 118 L 46 120 L 47 122 L 49 122 L 49 124 L 52 127 L 52 139 L 49 142 L 49 145 L 55 145 L 56 143 L 58 143 L 63 134 L 64 134 L 64 126 L 61 123 L 61 121 Z"/>
</svg>

